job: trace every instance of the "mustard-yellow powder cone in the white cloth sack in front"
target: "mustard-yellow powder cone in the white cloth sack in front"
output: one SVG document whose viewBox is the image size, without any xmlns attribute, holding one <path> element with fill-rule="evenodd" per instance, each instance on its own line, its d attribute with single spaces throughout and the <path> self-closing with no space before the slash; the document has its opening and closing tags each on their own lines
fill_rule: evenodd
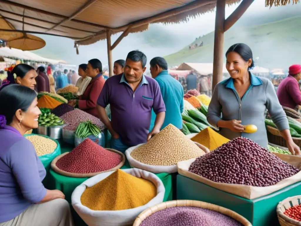
<svg viewBox="0 0 301 226">
<path fill-rule="evenodd" d="M 80 197 L 82 205 L 92 210 L 123 210 L 144 206 L 157 195 L 156 186 L 118 169 Z"/>
</svg>

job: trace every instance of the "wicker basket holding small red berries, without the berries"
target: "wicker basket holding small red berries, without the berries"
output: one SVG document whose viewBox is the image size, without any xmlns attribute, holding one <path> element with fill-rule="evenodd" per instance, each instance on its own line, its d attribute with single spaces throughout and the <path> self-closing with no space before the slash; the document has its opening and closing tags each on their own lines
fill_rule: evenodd
<svg viewBox="0 0 301 226">
<path fill-rule="evenodd" d="M 277 205 L 277 216 L 278 216 L 278 221 L 281 226 L 301 226 L 301 221 L 296 221 L 287 215 L 284 215 L 284 211 L 292 206 L 300 205 L 300 200 L 301 196 L 293 196 L 293 197 L 288 197 L 281 202 L 278 203 Z"/>
</svg>

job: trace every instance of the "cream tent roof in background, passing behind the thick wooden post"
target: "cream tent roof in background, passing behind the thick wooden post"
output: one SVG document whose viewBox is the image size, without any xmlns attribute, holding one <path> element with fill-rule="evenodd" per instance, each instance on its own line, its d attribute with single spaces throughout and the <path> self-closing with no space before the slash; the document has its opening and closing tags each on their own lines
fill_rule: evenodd
<svg viewBox="0 0 301 226">
<path fill-rule="evenodd" d="M 213 73 L 213 63 L 183 63 L 177 70 L 190 70 L 195 71 L 200 75 L 209 75 Z M 225 63 L 223 66 L 223 74 L 228 74 Z"/>
</svg>

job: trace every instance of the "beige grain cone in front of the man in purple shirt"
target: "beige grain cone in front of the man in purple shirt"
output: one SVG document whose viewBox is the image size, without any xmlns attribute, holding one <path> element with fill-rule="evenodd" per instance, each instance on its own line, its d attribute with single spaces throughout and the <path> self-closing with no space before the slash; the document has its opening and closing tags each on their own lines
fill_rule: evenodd
<svg viewBox="0 0 301 226">
<path fill-rule="evenodd" d="M 172 124 L 131 152 L 133 159 L 147 165 L 176 165 L 205 152 Z"/>
</svg>

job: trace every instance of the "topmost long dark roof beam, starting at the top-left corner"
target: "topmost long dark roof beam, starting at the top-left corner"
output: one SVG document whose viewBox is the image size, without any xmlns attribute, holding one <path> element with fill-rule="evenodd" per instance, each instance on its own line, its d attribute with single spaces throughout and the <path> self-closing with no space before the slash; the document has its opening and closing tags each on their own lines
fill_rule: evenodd
<svg viewBox="0 0 301 226">
<path fill-rule="evenodd" d="M 0 3 L 4 3 L 4 4 L 7 4 L 7 5 L 14 6 L 14 7 L 20 7 L 20 8 L 26 9 L 26 10 L 30 10 L 30 11 L 33 11 L 33 12 L 45 14 L 45 15 L 52 16 L 52 17 L 59 17 L 59 18 L 62 18 L 62 19 L 68 18 L 68 17 L 60 15 L 60 14 L 51 13 L 51 12 L 48 12 L 48 11 L 45 11 L 45 10 L 42 10 L 42 9 L 36 9 L 36 8 L 30 7 L 30 6 L 27 6 L 27 5 L 22 5 L 22 4 L 19 4 L 19 3 L 16 3 L 16 2 L 11 2 L 11 1 L 8 1 L 8 0 L 0 0 Z M 103 26 L 103 25 L 93 24 L 93 23 L 90 23 L 90 22 L 82 21 L 82 20 L 72 19 L 71 21 L 76 22 L 76 23 L 80 23 L 80 24 L 85 24 L 85 25 L 98 27 L 98 28 L 104 28 L 104 29 L 109 28 L 109 27 L 106 27 L 106 26 Z"/>
</svg>

